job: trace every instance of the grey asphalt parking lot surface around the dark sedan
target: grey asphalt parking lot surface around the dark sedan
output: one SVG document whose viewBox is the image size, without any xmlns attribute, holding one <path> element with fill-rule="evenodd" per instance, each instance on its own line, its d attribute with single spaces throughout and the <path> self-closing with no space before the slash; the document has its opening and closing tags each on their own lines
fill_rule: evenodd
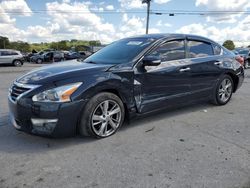
<svg viewBox="0 0 250 188">
<path fill-rule="evenodd" d="M 131 121 L 106 139 L 49 139 L 9 123 L 0 67 L 0 188 L 249 188 L 250 70 L 226 106 L 199 103 Z"/>
</svg>

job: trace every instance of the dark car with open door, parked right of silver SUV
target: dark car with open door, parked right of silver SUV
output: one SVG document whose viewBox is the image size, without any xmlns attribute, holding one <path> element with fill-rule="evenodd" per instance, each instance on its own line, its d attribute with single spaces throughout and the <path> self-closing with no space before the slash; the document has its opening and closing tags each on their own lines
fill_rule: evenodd
<svg viewBox="0 0 250 188">
<path fill-rule="evenodd" d="M 61 51 L 39 52 L 30 57 L 30 62 L 41 64 L 44 62 L 58 62 L 64 60 L 64 53 Z"/>
</svg>

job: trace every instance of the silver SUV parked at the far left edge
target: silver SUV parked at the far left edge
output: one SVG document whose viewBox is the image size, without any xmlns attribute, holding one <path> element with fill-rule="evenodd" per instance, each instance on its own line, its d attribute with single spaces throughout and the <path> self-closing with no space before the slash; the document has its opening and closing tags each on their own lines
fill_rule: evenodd
<svg viewBox="0 0 250 188">
<path fill-rule="evenodd" d="M 11 64 L 16 67 L 23 65 L 24 58 L 20 51 L 0 49 L 0 64 Z"/>
</svg>

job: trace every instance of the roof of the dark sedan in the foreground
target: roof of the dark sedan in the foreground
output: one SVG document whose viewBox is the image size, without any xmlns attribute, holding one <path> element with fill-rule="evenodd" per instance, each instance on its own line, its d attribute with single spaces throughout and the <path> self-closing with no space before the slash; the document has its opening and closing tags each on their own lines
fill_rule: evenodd
<svg viewBox="0 0 250 188">
<path fill-rule="evenodd" d="M 196 40 L 205 40 L 208 42 L 216 43 L 211 39 L 208 39 L 206 37 L 202 37 L 199 35 L 191 35 L 191 34 L 179 34 L 179 33 L 158 33 L 158 34 L 147 34 L 147 35 L 138 35 L 134 37 L 128 37 L 128 38 L 148 38 L 148 39 L 167 39 L 167 38 L 192 38 Z"/>
</svg>

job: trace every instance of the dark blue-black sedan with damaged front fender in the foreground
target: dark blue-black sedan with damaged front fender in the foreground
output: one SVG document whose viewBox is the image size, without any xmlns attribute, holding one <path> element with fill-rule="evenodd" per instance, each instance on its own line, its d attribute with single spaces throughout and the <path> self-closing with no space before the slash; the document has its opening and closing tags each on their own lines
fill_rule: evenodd
<svg viewBox="0 0 250 188">
<path fill-rule="evenodd" d="M 234 55 L 207 38 L 143 35 L 18 78 L 9 90 L 10 116 L 28 133 L 104 138 L 125 117 L 197 100 L 225 105 L 243 79 Z"/>
</svg>

